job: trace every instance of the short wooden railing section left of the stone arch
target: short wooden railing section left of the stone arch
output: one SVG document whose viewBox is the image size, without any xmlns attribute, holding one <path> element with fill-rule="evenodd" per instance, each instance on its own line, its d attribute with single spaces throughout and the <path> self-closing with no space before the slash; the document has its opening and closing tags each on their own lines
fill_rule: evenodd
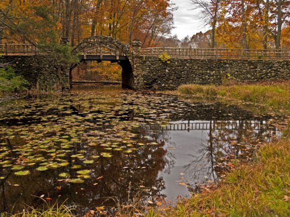
<svg viewBox="0 0 290 217">
<path fill-rule="evenodd" d="M 36 55 L 45 53 L 32 44 L 0 44 L 0 55 Z"/>
</svg>

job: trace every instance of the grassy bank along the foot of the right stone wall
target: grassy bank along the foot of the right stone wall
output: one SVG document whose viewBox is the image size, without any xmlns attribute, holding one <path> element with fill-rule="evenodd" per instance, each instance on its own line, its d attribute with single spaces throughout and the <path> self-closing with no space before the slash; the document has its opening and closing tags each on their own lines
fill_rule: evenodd
<svg viewBox="0 0 290 217">
<path fill-rule="evenodd" d="M 285 109 L 290 112 L 290 82 L 272 85 L 196 85 L 186 84 L 178 87 L 178 92 L 202 97 L 226 97 L 233 100 L 242 100 L 263 104 L 274 109 Z"/>
</svg>

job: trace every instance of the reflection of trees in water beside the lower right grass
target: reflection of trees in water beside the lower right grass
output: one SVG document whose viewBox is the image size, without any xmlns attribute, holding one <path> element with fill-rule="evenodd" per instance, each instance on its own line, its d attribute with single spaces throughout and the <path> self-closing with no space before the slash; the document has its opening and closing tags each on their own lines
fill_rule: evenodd
<svg viewBox="0 0 290 217">
<path fill-rule="evenodd" d="M 241 120 L 236 128 L 228 125 L 228 121 L 210 121 L 208 140 L 201 144 L 200 155 L 184 166 L 191 179 L 204 181 L 207 176 L 215 181 L 233 166 L 235 159 L 248 160 L 259 144 L 270 142 L 272 134 L 276 134 L 274 126 L 262 121 Z"/>
</svg>

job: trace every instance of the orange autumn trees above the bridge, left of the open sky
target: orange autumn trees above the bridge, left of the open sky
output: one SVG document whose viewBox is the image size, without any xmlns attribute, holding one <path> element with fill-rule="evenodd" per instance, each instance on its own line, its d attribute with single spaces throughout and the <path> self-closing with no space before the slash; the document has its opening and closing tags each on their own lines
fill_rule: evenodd
<svg viewBox="0 0 290 217">
<path fill-rule="evenodd" d="M 0 43 L 51 43 L 61 37 L 73 46 L 85 37 L 109 35 L 155 46 L 173 27 L 169 0 L 1 0 Z"/>
</svg>

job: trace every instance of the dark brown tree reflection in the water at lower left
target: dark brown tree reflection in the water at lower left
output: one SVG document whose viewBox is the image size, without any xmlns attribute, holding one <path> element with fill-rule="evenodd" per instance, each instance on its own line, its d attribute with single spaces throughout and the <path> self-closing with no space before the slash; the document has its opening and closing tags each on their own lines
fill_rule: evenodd
<svg viewBox="0 0 290 217">
<path fill-rule="evenodd" d="M 154 132 L 150 137 L 145 131 L 140 131 L 138 138 L 134 138 L 138 143 L 148 144 L 156 142 L 160 132 Z M 164 143 L 158 145 L 136 145 L 136 150 L 130 154 L 123 151 L 107 151 L 99 146 L 88 146 L 86 143 L 75 143 L 71 149 L 72 154 L 87 150 L 83 155 L 89 159 L 91 155 L 99 155 L 101 152 L 111 152 L 111 158 L 100 156 L 93 164 L 85 165 L 79 159 L 67 157 L 69 166 L 39 172 L 32 170 L 28 176 L 14 176 L 13 173 L 1 182 L 0 185 L 0 210 L 13 212 L 20 211 L 23 203 L 37 207 L 42 202 L 30 195 L 45 197 L 49 196 L 53 200 L 58 199 L 58 203 L 68 198 L 67 204 L 82 205 L 87 208 L 96 206 L 114 206 L 108 197 L 115 197 L 120 203 L 124 203 L 130 190 L 130 198 L 139 194 L 143 186 L 149 191 L 142 191 L 144 198 L 160 197 L 160 192 L 164 189 L 163 179 L 158 177 L 159 171 L 165 167 L 170 168 L 171 162 L 164 157 L 166 151 L 162 148 Z M 68 173 L 71 178 L 76 178 L 77 170 L 71 169 L 72 165 L 82 165 L 82 169 L 90 169 L 89 179 L 85 179 L 82 184 L 70 184 L 58 182 L 60 173 Z M 17 184 L 19 186 L 13 186 Z M 56 187 L 58 187 L 58 190 Z M 152 187 L 155 187 L 152 189 Z"/>
</svg>

